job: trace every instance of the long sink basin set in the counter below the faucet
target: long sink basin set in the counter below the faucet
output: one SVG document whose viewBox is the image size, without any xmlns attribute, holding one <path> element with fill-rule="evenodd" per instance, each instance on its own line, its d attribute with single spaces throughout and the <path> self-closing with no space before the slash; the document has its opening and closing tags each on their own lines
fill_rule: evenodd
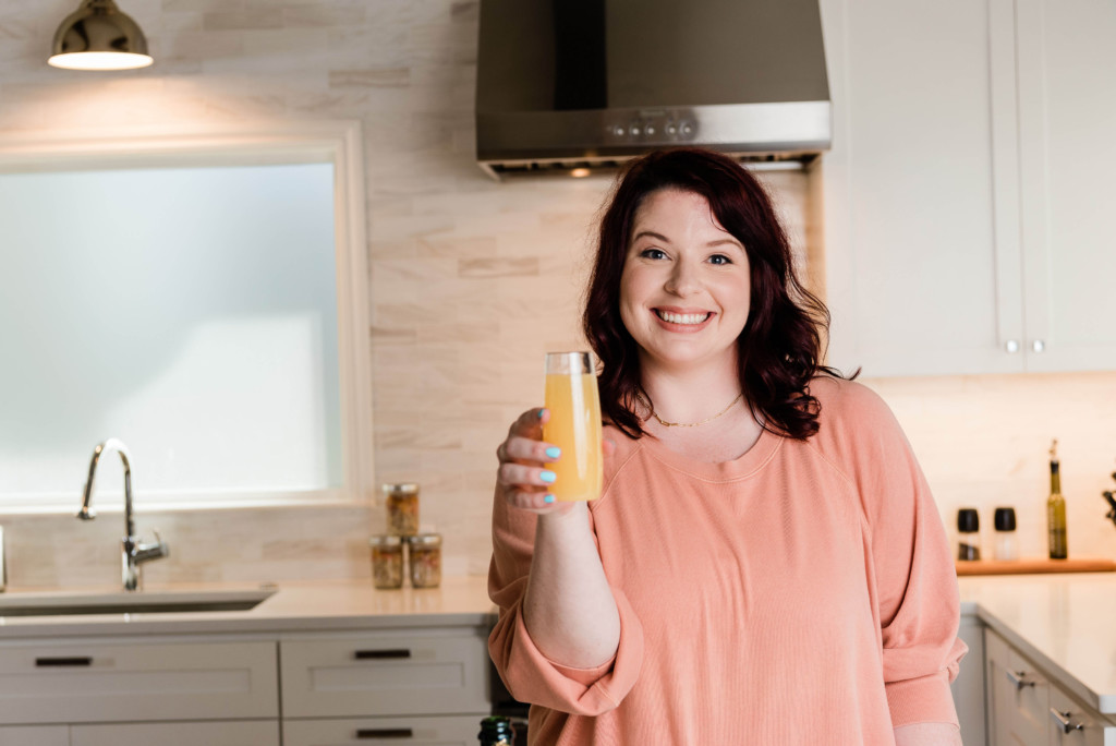
<svg viewBox="0 0 1116 746">
<path fill-rule="evenodd" d="M 0 616 L 248 611 L 266 601 L 278 590 L 264 586 L 223 591 L 0 593 Z"/>
</svg>

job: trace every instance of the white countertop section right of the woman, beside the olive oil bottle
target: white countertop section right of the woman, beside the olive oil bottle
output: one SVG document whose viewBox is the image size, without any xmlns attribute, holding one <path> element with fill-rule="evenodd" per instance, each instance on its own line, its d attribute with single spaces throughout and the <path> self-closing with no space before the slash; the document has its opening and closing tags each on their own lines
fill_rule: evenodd
<svg viewBox="0 0 1116 746">
<path fill-rule="evenodd" d="M 1116 573 L 958 578 L 962 613 L 975 613 L 1058 683 L 1116 712 Z"/>
</svg>

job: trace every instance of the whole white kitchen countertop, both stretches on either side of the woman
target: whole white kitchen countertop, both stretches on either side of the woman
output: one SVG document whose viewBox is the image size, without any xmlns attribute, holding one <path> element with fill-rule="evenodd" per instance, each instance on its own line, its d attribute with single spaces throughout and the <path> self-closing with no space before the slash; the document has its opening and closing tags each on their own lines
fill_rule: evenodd
<svg viewBox="0 0 1116 746">
<path fill-rule="evenodd" d="M 958 584 L 963 614 L 978 616 L 1085 704 L 1116 714 L 1116 573 L 978 575 L 960 577 Z M 183 584 L 173 590 L 230 587 L 254 586 Z M 367 580 L 314 581 L 282 583 L 275 595 L 249 611 L 0 618 L 0 640 L 485 628 L 494 620 L 484 576 L 446 576 L 440 589 L 398 591 L 376 590 Z"/>
</svg>

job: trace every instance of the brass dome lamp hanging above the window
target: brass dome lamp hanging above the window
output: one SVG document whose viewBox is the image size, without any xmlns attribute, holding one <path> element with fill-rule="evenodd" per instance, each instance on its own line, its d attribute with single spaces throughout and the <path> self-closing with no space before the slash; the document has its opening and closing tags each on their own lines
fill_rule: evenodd
<svg viewBox="0 0 1116 746">
<path fill-rule="evenodd" d="M 58 27 L 47 60 L 70 70 L 129 70 L 153 61 L 143 31 L 113 0 L 84 0 Z"/>
</svg>

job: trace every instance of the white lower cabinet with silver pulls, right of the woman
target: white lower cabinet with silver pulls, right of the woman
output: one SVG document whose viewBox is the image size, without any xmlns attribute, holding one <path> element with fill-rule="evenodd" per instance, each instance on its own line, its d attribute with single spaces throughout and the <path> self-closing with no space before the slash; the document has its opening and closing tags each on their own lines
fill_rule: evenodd
<svg viewBox="0 0 1116 746">
<path fill-rule="evenodd" d="M 989 629 L 984 656 L 990 744 L 1116 746 L 1116 721 L 1077 701 Z"/>
</svg>

